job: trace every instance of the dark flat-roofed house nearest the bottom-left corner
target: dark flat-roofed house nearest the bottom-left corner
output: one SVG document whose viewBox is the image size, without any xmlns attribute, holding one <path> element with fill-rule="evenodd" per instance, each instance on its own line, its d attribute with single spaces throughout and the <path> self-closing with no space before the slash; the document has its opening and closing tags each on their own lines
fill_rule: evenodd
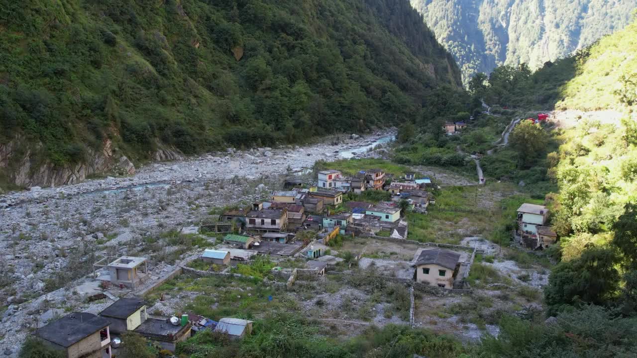
<svg viewBox="0 0 637 358">
<path fill-rule="evenodd" d="M 33 333 L 66 358 L 110 358 L 110 320 L 92 313 L 73 312 Z"/>
</svg>

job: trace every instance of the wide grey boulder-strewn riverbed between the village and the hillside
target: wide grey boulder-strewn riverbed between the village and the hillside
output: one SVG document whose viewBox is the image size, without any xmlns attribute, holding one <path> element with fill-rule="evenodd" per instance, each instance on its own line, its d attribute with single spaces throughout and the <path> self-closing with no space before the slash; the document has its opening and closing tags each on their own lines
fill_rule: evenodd
<svg viewBox="0 0 637 358">
<path fill-rule="evenodd" d="M 213 220 L 215 208 L 266 198 L 280 189 L 283 176 L 311 180 L 316 161 L 340 159 L 340 151 L 386 141 L 395 132 L 327 138 L 308 147 L 228 148 L 148 164 L 133 176 L 0 196 L 0 352 L 15 355 L 27 330 L 45 323 L 43 315 L 62 315 L 61 307 L 87 309 L 77 285 L 97 257 L 145 255 L 151 271 L 162 273 L 188 255 L 179 250 L 183 245 L 156 242 L 166 231 Z"/>
</svg>

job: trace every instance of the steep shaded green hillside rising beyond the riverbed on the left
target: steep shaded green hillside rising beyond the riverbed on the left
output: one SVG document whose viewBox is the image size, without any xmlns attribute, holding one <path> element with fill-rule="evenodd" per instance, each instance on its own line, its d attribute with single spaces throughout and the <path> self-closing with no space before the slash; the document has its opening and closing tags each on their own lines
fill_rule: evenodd
<svg viewBox="0 0 637 358">
<path fill-rule="evenodd" d="M 460 83 L 407 0 L 11 1 L 0 168 L 18 185 L 59 185 L 121 155 L 364 132 Z"/>
</svg>

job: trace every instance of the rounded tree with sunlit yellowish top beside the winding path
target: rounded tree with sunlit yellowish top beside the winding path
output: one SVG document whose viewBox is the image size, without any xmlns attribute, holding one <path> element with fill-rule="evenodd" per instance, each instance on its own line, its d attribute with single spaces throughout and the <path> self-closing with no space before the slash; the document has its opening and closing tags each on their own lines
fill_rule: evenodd
<svg viewBox="0 0 637 358">
<path fill-rule="evenodd" d="M 519 168 L 529 168 L 545 151 L 547 143 L 547 133 L 529 120 L 523 120 L 511 132 L 510 145 L 518 154 Z"/>
</svg>

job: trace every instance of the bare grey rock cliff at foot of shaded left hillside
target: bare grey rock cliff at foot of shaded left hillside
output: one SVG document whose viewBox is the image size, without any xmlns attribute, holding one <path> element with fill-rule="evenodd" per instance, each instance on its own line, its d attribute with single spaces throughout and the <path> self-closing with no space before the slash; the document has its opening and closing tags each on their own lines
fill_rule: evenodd
<svg viewBox="0 0 637 358">
<path fill-rule="evenodd" d="M 82 182 L 90 175 L 135 173 L 135 166 L 127 157 L 113 154 L 110 140 L 104 141 L 101 152 L 87 149 L 85 161 L 64 166 L 39 162 L 31 150 L 20 150 L 20 140 L 16 138 L 7 144 L 0 144 L 0 169 L 6 171 L 8 180 L 15 185 L 56 187 Z"/>
</svg>

